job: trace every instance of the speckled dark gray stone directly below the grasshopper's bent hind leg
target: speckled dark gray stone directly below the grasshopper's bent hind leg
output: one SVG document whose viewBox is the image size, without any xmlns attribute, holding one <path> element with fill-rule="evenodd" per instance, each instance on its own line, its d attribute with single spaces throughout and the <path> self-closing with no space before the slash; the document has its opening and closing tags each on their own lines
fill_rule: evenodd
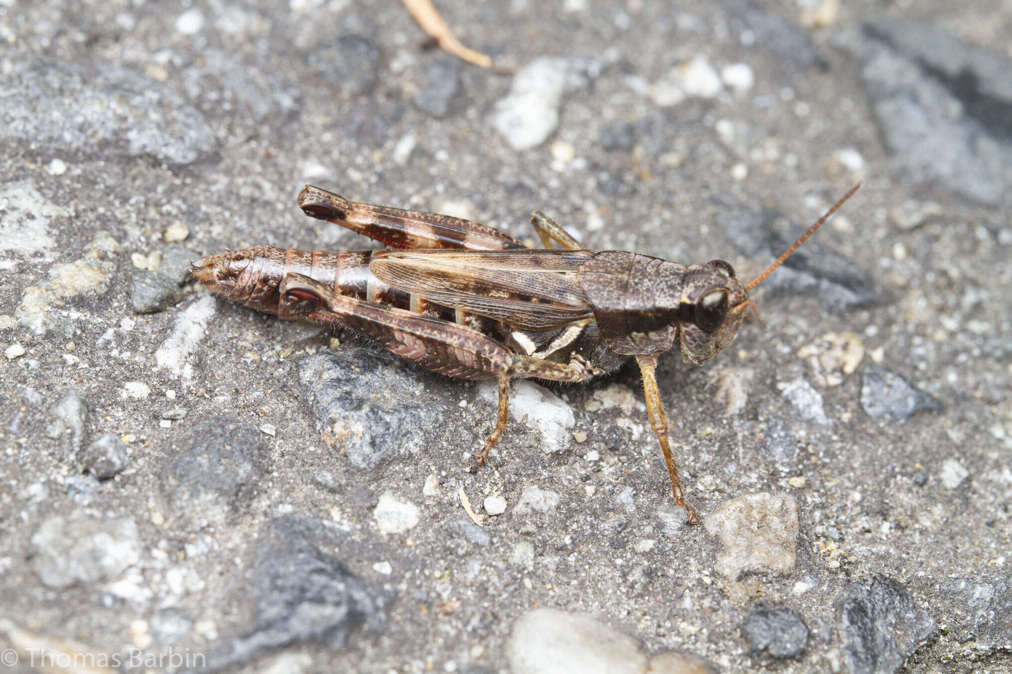
<svg viewBox="0 0 1012 674">
<path fill-rule="evenodd" d="M 363 348 L 317 354 L 299 365 L 303 396 L 324 439 L 359 468 L 432 442 L 445 403 L 425 399 L 423 376 L 397 356 Z"/>
</svg>

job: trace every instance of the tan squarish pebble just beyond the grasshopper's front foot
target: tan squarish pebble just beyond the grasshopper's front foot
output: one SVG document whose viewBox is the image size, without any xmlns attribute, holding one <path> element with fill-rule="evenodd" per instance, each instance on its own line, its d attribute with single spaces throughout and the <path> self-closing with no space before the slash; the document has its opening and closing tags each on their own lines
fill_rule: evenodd
<svg viewBox="0 0 1012 674">
<path fill-rule="evenodd" d="M 759 492 L 725 501 L 703 518 L 724 544 L 716 572 L 731 580 L 744 573 L 789 576 L 797 550 L 797 501 Z"/>
</svg>

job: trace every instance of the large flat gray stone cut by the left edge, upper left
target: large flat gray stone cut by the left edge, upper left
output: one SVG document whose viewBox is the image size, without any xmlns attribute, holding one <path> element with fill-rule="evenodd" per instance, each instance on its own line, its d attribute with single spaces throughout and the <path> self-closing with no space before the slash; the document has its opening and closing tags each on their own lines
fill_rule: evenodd
<svg viewBox="0 0 1012 674">
<path fill-rule="evenodd" d="M 9 58 L 11 69 L 0 73 L 2 140 L 87 155 L 147 155 L 175 165 L 191 164 L 215 148 L 199 110 L 136 71 L 85 68 L 25 51 Z"/>
</svg>

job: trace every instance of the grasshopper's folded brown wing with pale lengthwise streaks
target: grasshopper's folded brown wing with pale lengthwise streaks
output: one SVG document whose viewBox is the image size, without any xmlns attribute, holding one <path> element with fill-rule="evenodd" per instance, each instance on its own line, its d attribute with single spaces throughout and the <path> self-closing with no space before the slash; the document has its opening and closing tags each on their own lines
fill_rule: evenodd
<svg viewBox="0 0 1012 674">
<path fill-rule="evenodd" d="M 428 302 L 518 329 L 590 322 L 594 309 L 576 272 L 590 251 L 384 251 L 369 272 Z"/>
</svg>

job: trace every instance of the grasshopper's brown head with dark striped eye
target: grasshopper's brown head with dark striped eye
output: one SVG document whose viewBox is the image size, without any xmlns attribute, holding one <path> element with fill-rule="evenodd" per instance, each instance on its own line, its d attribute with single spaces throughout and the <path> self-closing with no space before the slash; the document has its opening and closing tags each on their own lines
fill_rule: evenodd
<svg viewBox="0 0 1012 674">
<path fill-rule="evenodd" d="M 723 260 L 692 265 L 685 271 L 679 306 L 678 346 L 682 357 L 702 365 L 728 348 L 754 307 L 745 284 Z"/>
</svg>

